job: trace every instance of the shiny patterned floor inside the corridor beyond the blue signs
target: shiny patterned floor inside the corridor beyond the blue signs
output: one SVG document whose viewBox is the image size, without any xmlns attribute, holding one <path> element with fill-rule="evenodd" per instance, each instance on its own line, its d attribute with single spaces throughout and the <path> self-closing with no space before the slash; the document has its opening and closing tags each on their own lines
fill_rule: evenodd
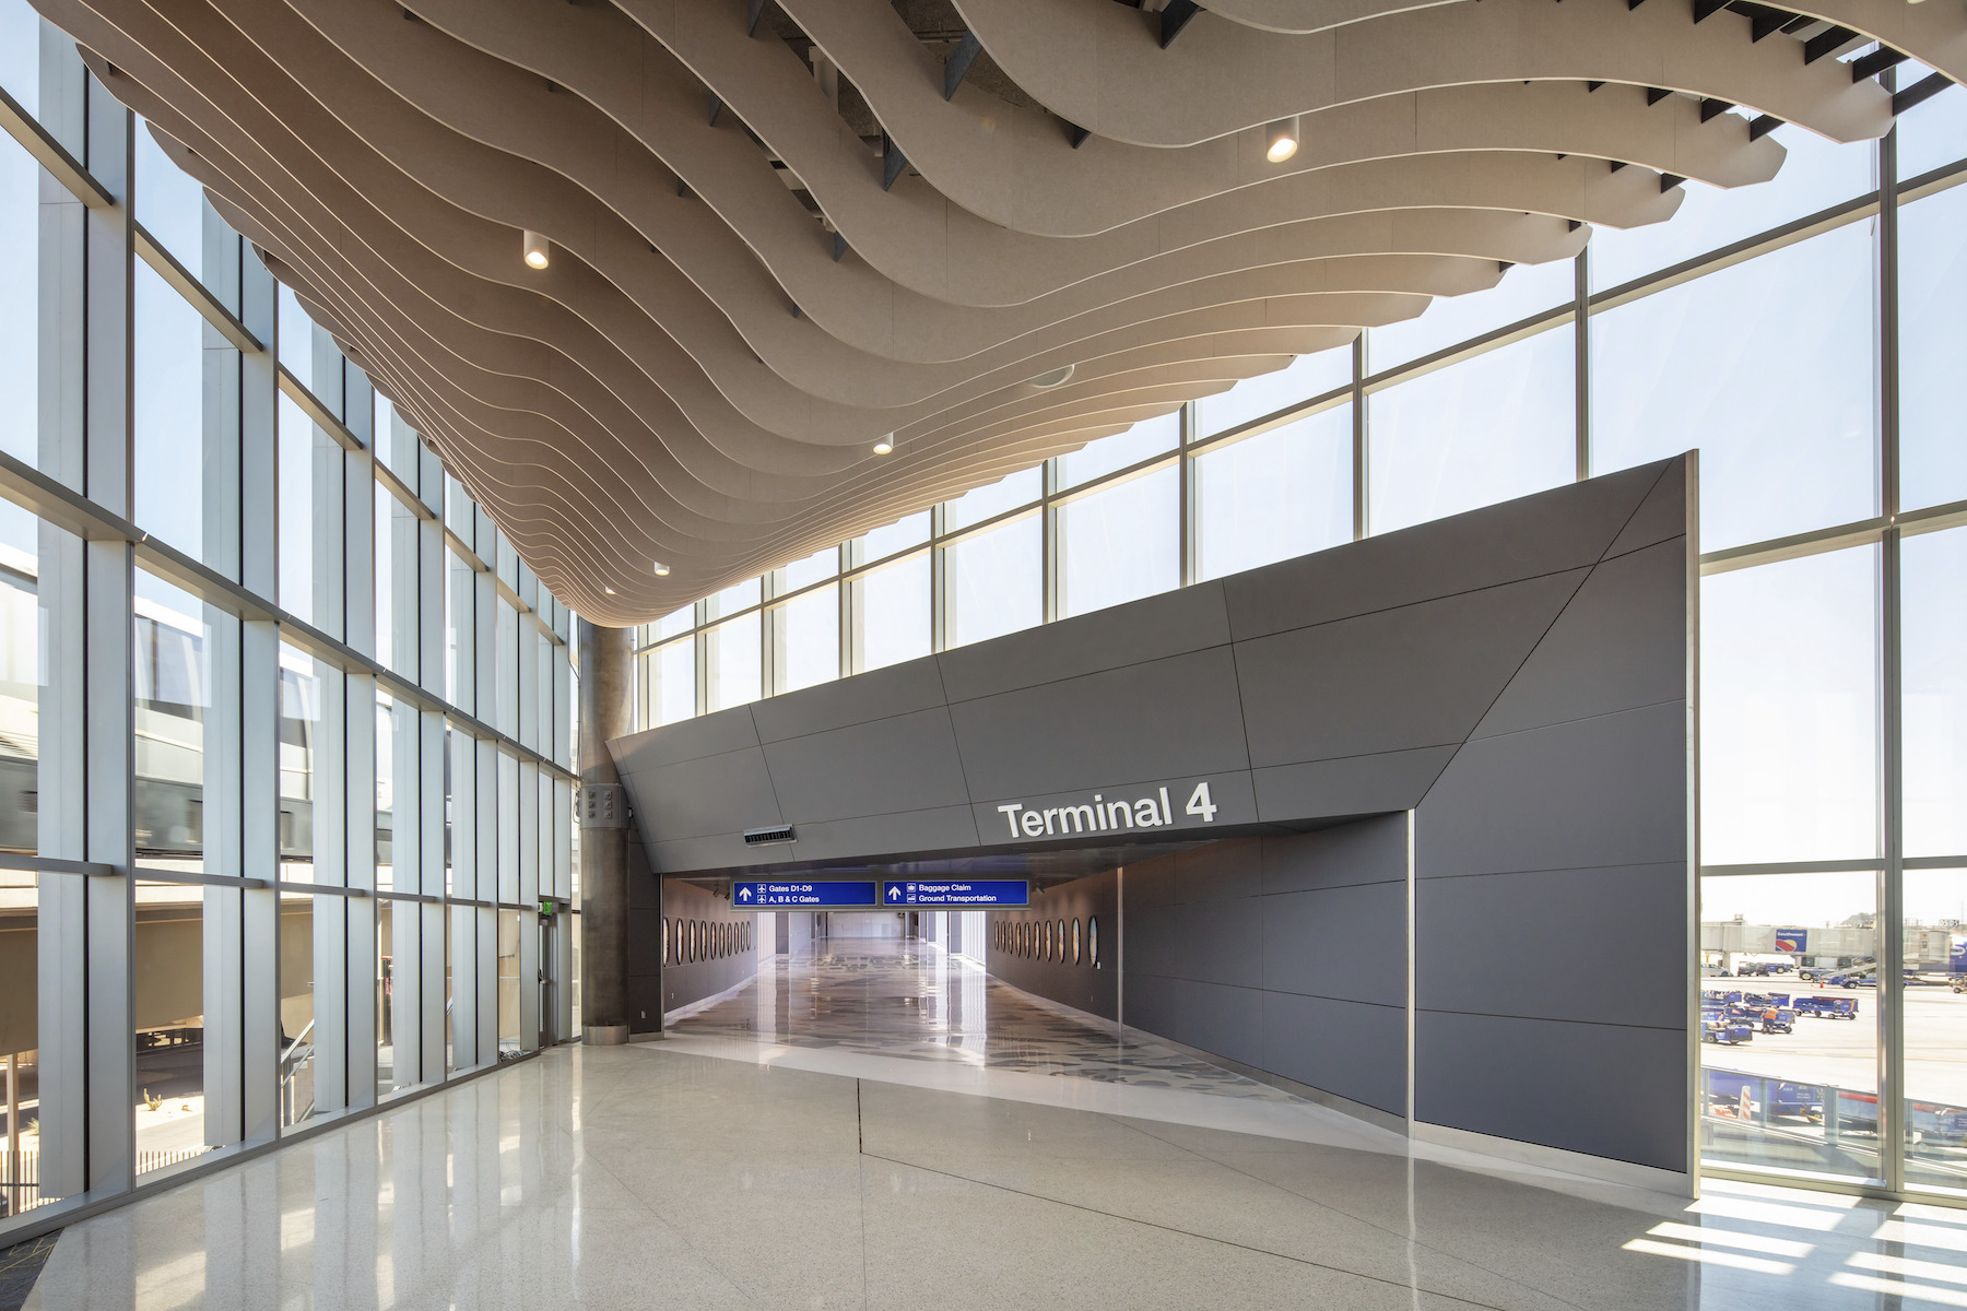
<svg viewBox="0 0 1967 1311">
<path fill-rule="evenodd" d="M 968 957 L 903 938 L 822 938 L 810 951 L 765 961 L 755 985 L 673 1022 L 669 1032 L 1282 1105 L 1300 1101 L 1137 1032 L 1048 1006 L 985 975 Z"/>
</svg>

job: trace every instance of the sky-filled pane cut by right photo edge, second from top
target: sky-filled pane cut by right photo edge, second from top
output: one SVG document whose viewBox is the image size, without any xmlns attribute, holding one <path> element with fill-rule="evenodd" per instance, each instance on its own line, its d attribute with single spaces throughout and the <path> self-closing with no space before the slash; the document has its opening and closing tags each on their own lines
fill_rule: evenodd
<svg viewBox="0 0 1967 1311">
<path fill-rule="evenodd" d="M 1967 94 L 1959 100 L 1967 104 Z M 1898 210 L 1898 322 L 1900 505 L 1918 509 L 1963 501 L 1967 187 L 1941 191 Z"/>
</svg>

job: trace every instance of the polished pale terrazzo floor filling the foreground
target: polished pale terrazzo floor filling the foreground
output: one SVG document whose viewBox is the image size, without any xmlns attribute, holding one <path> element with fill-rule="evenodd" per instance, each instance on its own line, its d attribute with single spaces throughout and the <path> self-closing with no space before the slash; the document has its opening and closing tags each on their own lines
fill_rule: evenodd
<svg viewBox="0 0 1967 1311">
<path fill-rule="evenodd" d="M 73 1225 L 28 1307 L 1967 1305 L 1967 1211 L 1719 1181 L 1690 1203 L 1389 1150 L 1322 1107 L 1046 1073 L 1070 1052 L 989 1071 L 989 1044 L 769 1036 L 559 1048 L 350 1122 Z M 1011 1095 L 889 1077 L 911 1071 Z"/>
</svg>

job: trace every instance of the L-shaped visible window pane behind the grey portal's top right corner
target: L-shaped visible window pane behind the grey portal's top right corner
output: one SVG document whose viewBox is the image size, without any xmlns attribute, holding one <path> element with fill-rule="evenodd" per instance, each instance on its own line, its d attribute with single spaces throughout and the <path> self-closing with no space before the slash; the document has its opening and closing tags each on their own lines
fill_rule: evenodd
<svg viewBox="0 0 1967 1311">
<path fill-rule="evenodd" d="M 1871 224 L 1591 320 L 1593 472 L 1701 448 L 1701 550 L 1877 513 Z"/>
</svg>

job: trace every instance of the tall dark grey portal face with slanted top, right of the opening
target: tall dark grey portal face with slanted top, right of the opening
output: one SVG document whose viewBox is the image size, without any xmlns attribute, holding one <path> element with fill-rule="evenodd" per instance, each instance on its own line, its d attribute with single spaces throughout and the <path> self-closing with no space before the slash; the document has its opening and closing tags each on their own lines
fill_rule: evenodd
<svg viewBox="0 0 1967 1311">
<path fill-rule="evenodd" d="M 1420 1120 L 1688 1166 L 1690 505 L 1674 462 L 1416 810 Z"/>
</svg>

